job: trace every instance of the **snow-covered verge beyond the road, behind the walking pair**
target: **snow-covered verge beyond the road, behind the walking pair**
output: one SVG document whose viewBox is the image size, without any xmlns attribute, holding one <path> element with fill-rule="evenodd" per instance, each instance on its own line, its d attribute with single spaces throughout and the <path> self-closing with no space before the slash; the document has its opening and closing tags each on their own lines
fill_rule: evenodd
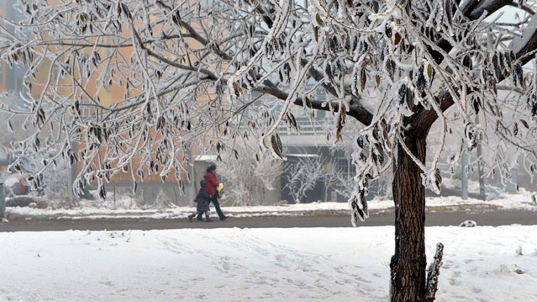
<svg viewBox="0 0 537 302">
<path fill-rule="evenodd" d="M 427 213 L 517 210 L 537 211 L 537 203 L 528 194 L 502 196 L 502 199 L 481 201 L 477 199 L 462 200 L 458 196 L 428 197 Z M 370 215 L 376 213 L 394 213 L 392 200 L 368 201 Z M 230 217 L 247 218 L 262 216 L 333 216 L 350 215 L 349 204 L 346 202 L 314 202 L 297 204 L 278 204 L 274 206 L 227 206 L 222 203 L 223 212 Z M 78 208 L 36 208 L 30 206 L 7 207 L 6 215 L 18 219 L 101 219 L 101 218 L 145 218 L 145 219 L 177 219 L 185 218 L 194 208 L 190 206 L 173 206 L 170 208 L 140 208 L 129 204 L 124 208 L 107 206 L 82 206 Z M 214 212 L 214 208 L 211 210 Z"/>
</svg>

